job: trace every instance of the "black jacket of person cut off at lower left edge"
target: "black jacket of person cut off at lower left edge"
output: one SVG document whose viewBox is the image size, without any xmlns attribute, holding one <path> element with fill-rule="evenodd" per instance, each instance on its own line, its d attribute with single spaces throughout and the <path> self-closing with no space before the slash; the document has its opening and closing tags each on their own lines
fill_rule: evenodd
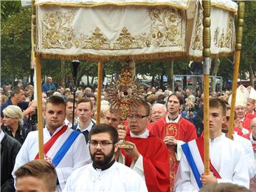
<svg viewBox="0 0 256 192">
<path fill-rule="evenodd" d="M 1 191 L 15 191 L 14 178 L 11 176 L 11 172 L 14 169 L 15 159 L 20 149 L 21 144 L 4 133 L 4 138 L 1 141 Z"/>
</svg>

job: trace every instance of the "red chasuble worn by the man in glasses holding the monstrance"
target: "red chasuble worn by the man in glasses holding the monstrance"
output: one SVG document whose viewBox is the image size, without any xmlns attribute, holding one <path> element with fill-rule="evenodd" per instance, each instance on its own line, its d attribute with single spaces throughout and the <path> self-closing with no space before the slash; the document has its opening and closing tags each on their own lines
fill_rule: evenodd
<svg viewBox="0 0 256 192">
<path fill-rule="evenodd" d="M 149 134 L 148 138 L 134 138 L 127 134 L 125 139 L 136 145 L 139 154 L 143 156 L 144 176 L 149 192 L 170 191 L 168 152 L 164 142 Z M 131 166 L 132 159 L 124 153 L 125 165 Z"/>
</svg>

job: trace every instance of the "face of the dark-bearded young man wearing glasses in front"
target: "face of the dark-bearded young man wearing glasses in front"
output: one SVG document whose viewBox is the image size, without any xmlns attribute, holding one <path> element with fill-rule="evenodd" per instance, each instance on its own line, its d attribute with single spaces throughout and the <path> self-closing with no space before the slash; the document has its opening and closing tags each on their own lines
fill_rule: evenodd
<svg viewBox="0 0 256 192">
<path fill-rule="evenodd" d="M 97 168 L 102 168 L 114 159 L 117 144 L 113 144 L 109 133 L 94 134 L 90 138 L 90 155 Z"/>
</svg>

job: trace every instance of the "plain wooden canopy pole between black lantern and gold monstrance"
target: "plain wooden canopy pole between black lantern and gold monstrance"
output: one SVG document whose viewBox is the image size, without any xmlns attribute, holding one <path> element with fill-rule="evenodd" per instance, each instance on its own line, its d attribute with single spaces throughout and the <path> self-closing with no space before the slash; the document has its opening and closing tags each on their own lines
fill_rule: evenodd
<svg viewBox="0 0 256 192">
<path fill-rule="evenodd" d="M 102 61 L 98 63 L 98 80 L 97 80 L 97 118 L 96 124 L 100 124 L 100 104 L 101 104 L 101 86 L 102 85 Z"/>
</svg>

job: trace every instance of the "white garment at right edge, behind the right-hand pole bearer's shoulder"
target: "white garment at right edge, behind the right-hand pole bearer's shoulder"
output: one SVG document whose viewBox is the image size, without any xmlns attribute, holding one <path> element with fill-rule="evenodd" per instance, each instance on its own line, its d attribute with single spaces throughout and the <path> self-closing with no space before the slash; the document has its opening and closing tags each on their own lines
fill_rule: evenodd
<svg viewBox="0 0 256 192">
<path fill-rule="evenodd" d="M 233 137 L 234 142 L 241 144 L 242 148 L 245 151 L 246 165 L 248 166 L 249 176 L 250 178 L 253 178 L 256 174 L 256 160 L 254 158 L 252 143 L 248 139 L 245 139 L 244 137 L 241 137 L 238 134 L 233 134 Z"/>
</svg>

